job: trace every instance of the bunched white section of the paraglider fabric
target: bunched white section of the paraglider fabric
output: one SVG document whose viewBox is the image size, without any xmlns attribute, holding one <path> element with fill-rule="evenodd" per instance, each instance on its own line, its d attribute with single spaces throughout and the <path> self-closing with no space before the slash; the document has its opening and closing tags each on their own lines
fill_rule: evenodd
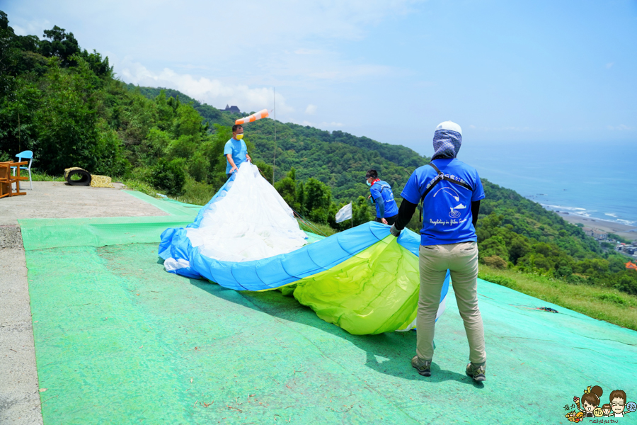
<svg viewBox="0 0 637 425">
<path fill-rule="evenodd" d="M 234 262 L 285 254 L 307 242 L 292 209 L 250 162 L 239 166 L 228 193 L 204 212 L 200 227 L 186 234 L 201 254 Z"/>
</svg>

